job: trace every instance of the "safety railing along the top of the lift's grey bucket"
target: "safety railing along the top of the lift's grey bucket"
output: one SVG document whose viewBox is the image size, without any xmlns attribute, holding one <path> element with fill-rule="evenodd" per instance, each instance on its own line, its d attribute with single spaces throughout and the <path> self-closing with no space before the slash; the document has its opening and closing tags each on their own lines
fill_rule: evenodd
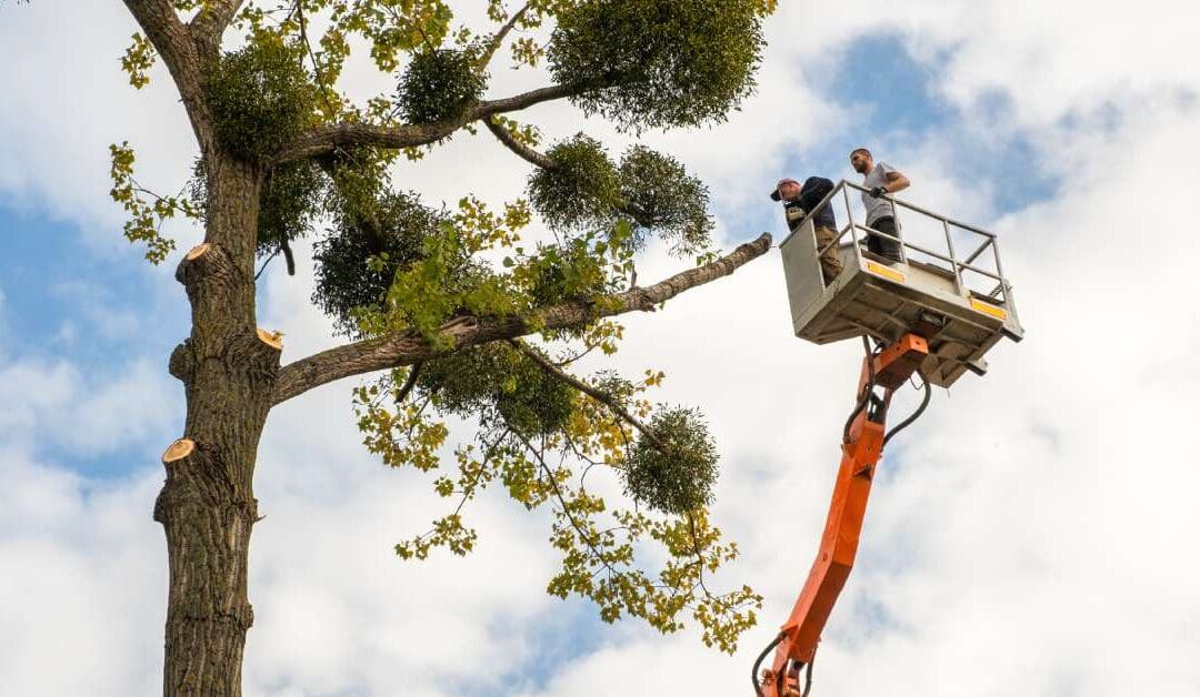
<svg viewBox="0 0 1200 697">
<path fill-rule="evenodd" d="M 901 263 L 912 264 L 916 262 L 926 269 L 940 269 L 947 276 L 953 277 L 954 288 L 960 295 L 974 294 L 1006 306 L 1013 305 L 1013 287 L 1004 277 L 1003 265 L 1000 260 L 1000 244 L 994 233 L 936 214 L 894 196 L 884 196 L 883 198 L 892 208 L 892 217 L 896 223 L 896 234 L 892 235 L 866 224 L 865 205 L 862 203 L 854 205 L 850 196 L 852 190 L 870 197 L 870 190 L 842 180 L 826 194 L 812 211 L 809 211 L 811 216 L 827 205 L 833 206 L 834 218 L 842 223 L 835 230 L 838 235 L 833 241 L 817 251 L 817 258 L 830 247 L 841 247 L 848 244 L 853 247 L 854 259 L 860 264 L 864 256 L 863 245 L 869 238 L 892 240 L 899 244 Z M 900 209 L 905 210 L 904 216 L 900 215 Z M 910 228 L 907 233 L 905 232 L 906 227 Z M 931 238 L 935 240 L 934 242 L 930 241 Z M 966 257 L 960 258 L 956 253 L 959 246 L 972 251 Z"/>
</svg>

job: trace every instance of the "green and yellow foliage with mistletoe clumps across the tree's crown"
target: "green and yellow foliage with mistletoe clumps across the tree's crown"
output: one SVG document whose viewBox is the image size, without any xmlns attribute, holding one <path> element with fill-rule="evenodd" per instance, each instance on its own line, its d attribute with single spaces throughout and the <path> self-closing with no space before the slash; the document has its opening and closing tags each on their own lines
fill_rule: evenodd
<svg viewBox="0 0 1200 697">
<path fill-rule="evenodd" d="M 204 2 L 174 5 L 192 12 Z M 602 310 L 632 283 L 635 253 L 650 235 L 679 254 L 709 253 L 704 185 L 678 161 L 640 145 L 614 162 L 582 133 L 547 150 L 553 167 L 530 176 L 528 203 L 499 208 L 469 194 L 431 208 L 416 193 L 394 190 L 388 173 L 397 155 L 418 160 L 432 142 L 401 151 L 343 145 L 312 161 L 272 164 L 281 148 L 314 126 L 455 122 L 481 98 L 488 62 L 504 44 L 514 67 L 545 61 L 557 82 L 574 88 L 575 104 L 623 130 L 720 121 L 754 88 L 761 22 L 775 2 L 509 5 L 488 0 L 492 25 L 476 32 L 456 24 L 445 0 L 246 4 L 235 20 L 245 48 L 205 70 L 217 143 L 263 178 L 260 254 L 286 250 L 328 221 L 316 235 L 313 301 L 340 332 L 402 334 L 434 353 L 354 392 L 367 449 L 390 467 L 427 473 L 436 494 L 452 500 L 428 531 L 397 545 L 397 554 L 469 553 L 480 533 L 468 524 L 467 505 L 496 485 L 518 505 L 552 510 L 550 540 L 562 569 L 550 593 L 590 599 L 606 621 L 636 617 L 664 632 L 690 615 L 706 643 L 732 651 L 762 599 L 746 587 L 708 587 L 738 549 L 708 521 L 716 451 L 700 414 L 654 413 L 644 393 L 662 374 L 653 371 L 636 381 L 602 371 L 583 379 L 587 390 L 577 389 L 569 366 L 593 351 L 613 354 L 623 336 L 613 322 L 546 331 L 542 346 L 524 348 L 456 347 L 448 331 L 487 318 L 520 318 L 536 331 L 541 311 L 563 302 Z M 314 17 L 317 31 L 308 22 Z M 544 43 L 545 31 L 534 30 L 551 25 Z M 338 92 L 338 80 L 352 47 L 360 46 L 382 72 L 403 72 L 391 94 L 356 106 Z M 131 84 L 145 84 L 155 58 L 136 36 L 122 59 Z M 535 127 L 504 115 L 493 121 L 516 143 L 538 148 Z M 173 245 L 158 234 L 162 221 L 199 215 L 206 179 L 197 178 L 194 202 L 160 198 L 133 180 L 132 150 L 114 146 L 113 156 L 113 197 L 131 215 L 126 236 L 146 242 L 148 258 L 158 262 Z M 522 240 L 533 210 L 552 228 L 552 241 Z M 467 423 L 470 434 L 451 439 L 450 420 Z M 652 435 L 635 425 L 647 420 Z M 598 495 L 598 477 L 624 485 L 632 501 Z M 648 545 L 661 548 L 660 564 L 647 565 Z"/>
</svg>

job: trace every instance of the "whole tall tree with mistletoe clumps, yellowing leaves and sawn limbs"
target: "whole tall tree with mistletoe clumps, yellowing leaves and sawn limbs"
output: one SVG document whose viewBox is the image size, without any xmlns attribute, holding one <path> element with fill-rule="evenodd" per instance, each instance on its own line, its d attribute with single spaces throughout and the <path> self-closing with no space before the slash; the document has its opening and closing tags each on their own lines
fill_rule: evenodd
<svg viewBox="0 0 1200 697">
<path fill-rule="evenodd" d="M 149 260 L 173 252 L 164 220 L 204 228 L 176 271 L 192 331 L 169 371 L 187 417 L 154 509 L 170 565 L 164 693 L 240 695 L 260 433 L 276 404 L 352 375 L 374 375 L 353 395 L 367 447 L 431 473 L 454 506 L 398 543 L 402 558 L 469 552 L 464 505 L 499 483 L 527 509 L 553 511 L 563 565 L 550 593 L 664 632 L 690 615 L 706 643 L 732 651 L 761 599 L 748 587 L 709 589 L 738 551 L 707 512 L 716 450 L 702 416 L 649 402 L 659 372 L 629 380 L 570 367 L 617 350 L 613 318 L 733 272 L 770 239 L 719 256 L 708 191 L 678 161 L 635 146 L 614 162 L 582 133 L 542 151 L 538 130 L 510 114 L 568 100 L 632 132 L 720 121 L 754 89 L 774 0 L 488 0 L 482 28 L 461 25 L 444 0 L 125 4 L 144 32 L 122 60 L 131 84 L 143 88 L 162 60 L 200 152 L 187 192 L 160 197 L 134 179 L 132 148 L 112 146 L 112 196 Z M 244 44 L 224 50 L 232 32 Z M 511 67 L 545 66 L 552 83 L 485 98 L 505 47 Z M 395 74 L 395 91 L 365 104 L 343 96 L 352 48 Z M 533 166 L 527 200 L 491 210 L 464 194 L 433 208 L 394 181 L 401 155 L 419 158 L 480 126 Z M 521 232 L 534 212 L 551 234 L 530 245 Z M 305 238 L 313 302 L 347 341 L 281 366 L 278 335 L 256 324 L 266 264 L 256 266 L 282 254 L 293 272 L 292 245 Z M 650 239 L 696 265 L 638 286 L 634 260 Z M 448 415 L 476 425 L 452 462 L 439 455 Z M 595 468 L 619 477 L 631 506 L 587 488 Z M 653 542 L 667 560 L 648 571 L 636 552 Z"/>
</svg>

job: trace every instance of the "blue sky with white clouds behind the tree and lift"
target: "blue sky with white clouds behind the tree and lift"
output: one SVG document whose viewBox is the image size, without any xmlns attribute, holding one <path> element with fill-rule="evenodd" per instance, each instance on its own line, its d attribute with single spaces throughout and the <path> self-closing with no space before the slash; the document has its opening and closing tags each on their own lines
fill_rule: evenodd
<svg viewBox="0 0 1200 697">
<path fill-rule="evenodd" d="M 479 5 L 479 6 L 476 6 Z M 721 244 L 781 238 L 785 175 L 852 178 L 859 145 L 907 200 L 1000 234 L 1026 340 L 937 391 L 880 464 L 859 560 L 824 632 L 815 695 L 1200 693 L 1200 457 L 1190 372 L 1200 236 L 1200 11 L 1182 0 L 782 0 L 760 86 L 727 124 L 643 139 L 713 193 Z M 456 8 L 479 14 L 482 4 Z M 166 545 L 150 519 L 179 437 L 172 278 L 121 239 L 109 143 L 139 179 L 182 186 L 194 144 L 166 72 L 136 92 L 115 0 L 0 4 L 0 692 L 140 696 L 161 686 Z M 349 89 L 370 94 L 362 66 Z M 536 76 L 493 76 L 492 95 Z M 631 138 L 569 104 L 523 119 Z M 456 137 L 397 180 L 430 202 L 521 194 L 528 166 Z M 200 232 L 170 233 L 186 250 Z M 269 270 L 259 324 L 283 360 L 335 344 L 312 264 Z M 640 277 L 678 269 L 652 248 Z M 854 342 L 794 338 L 772 252 L 628 317 L 608 363 L 667 374 L 721 452 L 714 521 L 743 558 L 726 585 L 766 596 L 734 656 L 698 633 L 605 625 L 545 593 L 547 519 L 500 497 L 470 511 L 472 555 L 391 547 L 440 515 L 428 481 L 360 445 L 346 380 L 277 408 L 259 451 L 251 546 L 251 697 L 749 695 L 754 656 L 808 572 L 858 374 Z M 594 367 L 600 367 L 596 363 Z M 896 410 L 914 403 L 908 391 Z"/>
</svg>

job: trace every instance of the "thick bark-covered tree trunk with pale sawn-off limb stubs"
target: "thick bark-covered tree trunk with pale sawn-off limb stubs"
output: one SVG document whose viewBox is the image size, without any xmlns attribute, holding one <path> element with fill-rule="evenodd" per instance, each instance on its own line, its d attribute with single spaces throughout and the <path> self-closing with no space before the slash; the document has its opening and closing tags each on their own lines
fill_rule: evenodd
<svg viewBox="0 0 1200 697">
<path fill-rule="evenodd" d="M 163 456 L 154 517 L 167 534 L 170 588 L 163 695 L 241 695 L 253 609 L 246 594 L 258 511 L 254 458 L 271 405 L 280 349 L 254 323 L 257 170 L 209 154 L 205 245 L 175 277 L 192 305 L 192 334 L 170 356 L 187 397 L 184 438 Z"/>
</svg>

